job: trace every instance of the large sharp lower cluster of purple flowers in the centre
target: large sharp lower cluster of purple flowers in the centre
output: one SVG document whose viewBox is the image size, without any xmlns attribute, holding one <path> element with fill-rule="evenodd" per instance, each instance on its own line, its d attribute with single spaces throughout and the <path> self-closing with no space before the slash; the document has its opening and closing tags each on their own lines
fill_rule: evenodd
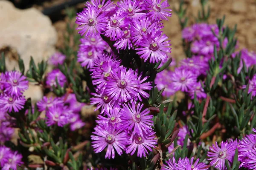
<svg viewBox="0 0 256 170">
<path fill-rule="evenodd" d="M 137 103 L 149 97 L 146 91 L 152 86 L 148 77 L 120 66 L 119 59 L 110 54 L 98 56 L 90 70 L 96 85 L 91 104 L 97 104 L 96 110 L 101 109 L 103 114 L 98 115 L 99 125 L 91 136 L 96 153 L 108 147 L 106 158 L 114 158 L 114 149 L 119 155 L 123 150 L 131 155 L 137 150 L 137 156 L 145 156 L 157 143 L 152 129 L 153 115 Z"/>
</svg>

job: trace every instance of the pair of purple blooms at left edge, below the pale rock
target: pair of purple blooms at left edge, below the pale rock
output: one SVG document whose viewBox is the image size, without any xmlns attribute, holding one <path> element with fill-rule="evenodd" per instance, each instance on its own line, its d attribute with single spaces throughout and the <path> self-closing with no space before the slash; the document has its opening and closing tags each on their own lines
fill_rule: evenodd
<svg viewBox="0 0 256 170">
<path fill-rule="evenodd" d="M 18 71 L 0 73 L 0 108 L 3 112 L 18 112 L 26 102 L 23 92 L 29 88 L 26 77 Z"/>
</svg>

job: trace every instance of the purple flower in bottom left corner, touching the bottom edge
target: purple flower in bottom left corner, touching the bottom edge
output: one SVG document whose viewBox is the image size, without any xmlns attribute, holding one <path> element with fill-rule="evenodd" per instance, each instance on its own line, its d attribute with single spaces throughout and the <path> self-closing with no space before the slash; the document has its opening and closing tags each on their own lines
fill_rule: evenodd
<svg viewBox="0 0 256 170">
<path fill-rule="evenodd" d="M 13 170 L 17 170 L 17 165 L 22 165 L 23 162 L 21 161 L 22 155 L 19 154 L 17 151 L 14 153 L 9 153 L 8 155 L 5 156 L 7 157 L 7 162 L 3 164 L 2 170 L 9 170 L 12 168 Z"/>
</svg>

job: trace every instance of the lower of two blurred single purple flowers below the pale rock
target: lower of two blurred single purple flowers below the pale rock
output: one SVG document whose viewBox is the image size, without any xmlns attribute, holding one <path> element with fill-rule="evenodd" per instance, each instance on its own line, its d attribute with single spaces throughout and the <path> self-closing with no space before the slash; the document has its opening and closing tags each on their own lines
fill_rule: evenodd
<svg viewBox="0 0 256 170">
<path fill-rule="evenodd" d="M 57 87 L 56 79 L 57 79 L 58 84 L 61 87 L 64 87 L 64 85 L 67 83 L 67 79 L 66 79 L 65 75 L 59 69 L 54 69 L 54 70 L 52 70 L 52 72 L 50 72 L 47 75 L 47 78 L 46 78 L 47 86 Z"/>
</svg>

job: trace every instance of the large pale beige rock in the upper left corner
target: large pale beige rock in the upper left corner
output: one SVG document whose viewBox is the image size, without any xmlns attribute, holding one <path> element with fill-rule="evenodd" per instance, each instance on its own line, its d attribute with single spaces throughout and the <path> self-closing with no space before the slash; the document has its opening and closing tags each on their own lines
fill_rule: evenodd
<svg viewBox="0 0 256 170">
<path fill-rule="evenodd" d="M 36 63 L 47 60 L 55 52 L 57 32 L 49 17 L 35 8 L 20 10 L 9 1 L 0 0 L 0 48 L 10 46 L 17 50 L 29 68 L 30 56 Z M 6 64 L 12 70 L 16 64 Z"/>
</svg>

